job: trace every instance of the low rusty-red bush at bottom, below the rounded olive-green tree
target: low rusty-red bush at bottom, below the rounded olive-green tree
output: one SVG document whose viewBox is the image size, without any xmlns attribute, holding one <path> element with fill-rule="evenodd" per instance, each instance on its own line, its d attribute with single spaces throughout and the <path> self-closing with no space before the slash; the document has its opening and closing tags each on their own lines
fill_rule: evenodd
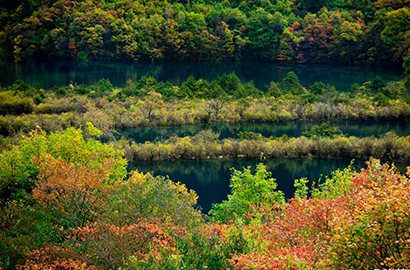
<svg viewBox="0 0 410 270">
<path fill-rule="evenodd" d="M 87 261 L 103 269 L 117 269 L 131 258 L 160 261 L 164 252 L 175 252 L 175 241 L 163 226 L 144 221 L 125 227 L 96 222 L 72 229 L 71 239 L 85 248 Z"/>
</svg>

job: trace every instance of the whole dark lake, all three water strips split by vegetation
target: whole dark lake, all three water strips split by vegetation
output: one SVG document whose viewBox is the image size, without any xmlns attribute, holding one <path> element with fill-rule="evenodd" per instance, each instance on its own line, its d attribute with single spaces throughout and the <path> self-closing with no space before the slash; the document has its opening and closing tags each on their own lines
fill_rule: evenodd
<svg viewBox="0 0 410 270">
<path fill-rule="evenodd" d="M 131 79 L 137 81 L 143 76 L 152 76 L 158 81 L 169 81 L 181 85 L 190 75 L 195 78 L 211 81 L 224 73 L 235 74 L 242 82 L 253 81 L 255 86 L 266 90 L 271 81 L 281 81 L 288 72 L 295 72 L 300 82 L 309 87 L 316 81 L 334 85 L 339 91 L 347 91 L 351 84 L 361 84 L 379 76 L 385 82 L 400 80 L 401 70 L 391 70 L 374 67 L 355 66 L 325 66 L 325 65 L 284 65 L 275 63 L 194 63 L 194 62 L 161 62 L 161 63 L 125 63 L 125 62 L 86 62 L 70 61 L 34 61 L 23 60 L 15 63 L 13 58 L 0 58 L 0 83 L 11 85 L 15 80 L 22 79 L 30 84 L 38 84 L 44 88 L 70 83 L 94 84 L 102 78 L 109 79 L 116 87 L 122 87 Z M 318 122 L 287 122 L 287 123 L 235 123 L 213 124 L 215 132 L 220 132 L 221 138 L 237 137 L 240 131 L 252 131 L 264 136 L 300 136 Z M 379 136 L 394 130 L 398 135 L 409 135 L 409 127 L 403 122 L 379 123 L 332 123 L 343 133 L 355 136 Z M 121 133 L 135 140 L 161 140 L 174 134 L 178 136 L 194 135 L 208 128 L 206 125 L 186 127 L 160 127 L 122 130 Z M 230 168 L 241 169 L 244 166 L 255 167 L 258 160 L 204 160 L 177 161 L 162 163 L 131 163 L 129 169 L 142 172 L 154 172 L 155 175 L 169 175 L 174 181 L 181 181 L 189 189 L 194 189 L 198 195 L 198 204 L 207 213 L 213 203 L 219 203 L 230 193 Z M 307 177 L 317 181 L 320 177 L 329 175 L 331 171 L 345 168 L 350 160 L 324 159 L 271 159 L 265 160 L 273 177 L 277 179 L 280 190 L 287 198 L 294 193 L 294 179 Z M 356 162 L 355 166 L 363 167 L 364 162 Z"/>
</svg>

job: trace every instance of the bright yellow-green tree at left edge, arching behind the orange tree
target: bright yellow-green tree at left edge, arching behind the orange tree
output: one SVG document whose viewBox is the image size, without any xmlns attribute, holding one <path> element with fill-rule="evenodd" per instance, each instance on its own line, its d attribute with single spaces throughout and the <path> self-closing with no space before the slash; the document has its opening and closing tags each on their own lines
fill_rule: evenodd
<svg viewBox="0 0 410 270">
<path fill-rule="evenodd" d="M 111 160 L 109 181 L 115 182 L 126 175 L 127 161 L 122 157 L 122 152 L 93 137 L 85 139 L 81 129 L 68 128 L 49 135 L 35 130 L 20 145 L 0 154 L 1 204 L 31 196 L 39 173 L 39 167 L 33 163 L 33 158 L 39 158 L 45 153 L 55 159 L 94 170 L 101 170 L 107 160 Z"/>
</svg>

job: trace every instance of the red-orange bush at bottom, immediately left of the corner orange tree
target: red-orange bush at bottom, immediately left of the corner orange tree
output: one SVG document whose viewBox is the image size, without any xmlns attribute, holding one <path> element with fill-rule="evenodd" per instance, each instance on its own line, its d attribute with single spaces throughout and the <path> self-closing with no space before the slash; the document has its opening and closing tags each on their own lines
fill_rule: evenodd
<svg viewBox="0 0 410 270">
<path fill-rule="evenodd" d="M 294 198 L 258 210 L 266 223 L 244 228 L 259 247 L 232 257 L 234 269 L 330 269 L 323 241 L 329 236 L 328 216 L 335 209 L 318 199 Z M 252 217 L 246 217 L 251 219 Z"/>
</svg>

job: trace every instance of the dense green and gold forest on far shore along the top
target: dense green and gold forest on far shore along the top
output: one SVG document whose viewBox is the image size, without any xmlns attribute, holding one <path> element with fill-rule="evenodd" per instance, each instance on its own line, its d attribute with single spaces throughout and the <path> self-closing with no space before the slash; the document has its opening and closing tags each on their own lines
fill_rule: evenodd
<svg viewBox="0 0 410 270">
<path fill-rule="evenodd" d="M 409 1 L 20 0 L 0 3 L 16 57 L 410 67 Z"/>
</svg>

